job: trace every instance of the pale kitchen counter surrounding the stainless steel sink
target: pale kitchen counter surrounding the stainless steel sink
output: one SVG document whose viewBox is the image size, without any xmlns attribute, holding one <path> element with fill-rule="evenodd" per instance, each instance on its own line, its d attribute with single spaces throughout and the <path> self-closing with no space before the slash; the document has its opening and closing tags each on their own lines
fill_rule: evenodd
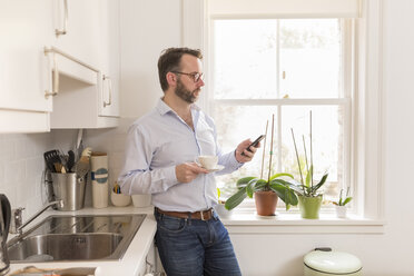
<svg viewBox="0 0 414 276">
<path fill-rule="evenodd" d="M 128 246 L 122 259 L 120 260 L 86 260 L 86 262 L 51 262 L 51 263 L 26 263 L 10 264 L 10 273 L 21 269 L 27 266 L 36 266 L 38 268 L 69 268 L 69 267 L 97 267 L 96 276 L 114 276 L 114 275 L 139 275 L 139 269 L 145 265 L 146 256 L 152 244 L 157 223 L 154 218 L 154 208 L 136 208 L 128 207 L 108 207 L 102 209 L 83 208 L 77 211 L 45 211 L 34 221 L 27 226 L 30 229 L 36 224 L 50 215 L 118 215 L 118 214 L 147 214 L 140 228 L 136 233 L 132 241 Z M 23 218 L 24 220 L 24 218 Z M 27 230 L 26 229 L 26 230 Z M 11 237 L 9 237 L 10 239 Z"/>
</svg>

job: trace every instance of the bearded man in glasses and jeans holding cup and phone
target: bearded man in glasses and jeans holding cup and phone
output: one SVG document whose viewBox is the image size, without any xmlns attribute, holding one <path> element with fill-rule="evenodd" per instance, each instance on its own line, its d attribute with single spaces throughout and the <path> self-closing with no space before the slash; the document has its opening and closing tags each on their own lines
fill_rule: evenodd
<svg viewBox="0 0 414 276">
<path fill-rule="evenodd" d="M 156 244 L 168 276 L 240 275 L 226 228 L 213 210 L 217 204 L 214 172 L 195 162 L 218 156 L 228 174 L 250 161 L 250 141 L 221 154 L 210 117 L 194 105 L 203 81 L 201 52 L 169 48 L 158 60 L 164 97 L 132 124 L 119 177 L 124 194 L 151 194 L 157 219 Z M 244 154 L 244 155 L 241 155 Z"/>
</svg>

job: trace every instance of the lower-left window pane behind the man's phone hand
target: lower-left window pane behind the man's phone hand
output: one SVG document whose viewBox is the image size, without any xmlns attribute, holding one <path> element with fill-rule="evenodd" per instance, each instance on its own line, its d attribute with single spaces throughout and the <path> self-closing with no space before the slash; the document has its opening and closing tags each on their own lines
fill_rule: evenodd
<svg viewBox="0 0 414 276">
<path fill-rule="evenodd" d="M 239 142 L 245 139 L 250 138 L 252 141 L 256 139 L 259 135 L 265 134 L 266 131 L 266 120 L 268 122 L 268 131 L 266 138 L 266 152 L 269 152 L 269 141 L 270 141 L 270 126 L 272 126 L 272 115 L 277 114 L 277 108 L 272 106 L 215 106 L 215 114 L 220 115 L 216 116 L 216 127 L 218 134 L 218 142 L 221 146 L 223 152 L 228 152 L 234 150 Z M 277 116 L 275 115 L 275 124 L 277 121 Z M 275 126 L 274 135 L 274 151 L 275 156 L 273 157 L 273 168 L 277 168 L 277 158 L 276 158 L 276 137 L 277 130 Z M 263 157 L 264 141 L 262 141 L 262 148 L 259 148 L 255 155 L 255 158 L 239 170 L 216 177 L 217 186 L 223 187 L 228 185 L 223 193 L 223 196 L 228 196 L 228 193 L 231 195 L 235 189 L 235 184 L 238 178 L 246 176 L 257 176 L 260 177 L 262 172 L 262 157 Z M 265 166 L 264 166 L 264 178 L 268 174 L 268 158 L 269 155 L 266 155 Z M 227 195 L 226 195 L 227 191 Z"/>
</svg>

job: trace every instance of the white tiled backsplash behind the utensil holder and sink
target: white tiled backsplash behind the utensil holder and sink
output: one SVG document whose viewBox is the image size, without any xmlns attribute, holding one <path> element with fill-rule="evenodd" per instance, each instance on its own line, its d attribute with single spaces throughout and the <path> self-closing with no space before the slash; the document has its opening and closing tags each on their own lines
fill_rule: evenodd
<svg viewBox="0 0 414 276">
<path fill-rule="evenodd" d="M 83 130 L 83 146 L 105 151 L 109 160 L 109 186 L 122 166 L 125 136 L 134 119 L 121 119 L 112 129 Z M 0 194 L 6 194 L 11 207 L 24 207 L 24 217 L 34 214 L 47 203 L 42 181 L 43 152 L 75 147 L 78 130 L 52 130 L 47 134 L 0 135 Z M 87 185 L 86 206 L 91 206 L 90 185 Z"/>
</svg>

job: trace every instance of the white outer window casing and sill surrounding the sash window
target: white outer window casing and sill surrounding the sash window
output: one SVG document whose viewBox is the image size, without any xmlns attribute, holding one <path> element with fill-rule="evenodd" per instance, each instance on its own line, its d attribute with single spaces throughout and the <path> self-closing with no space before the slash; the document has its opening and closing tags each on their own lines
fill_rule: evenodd
<svg viewBox="0 0 414 276">
<path fill-rule="evenodd" d="M 209 12 L 208 0 L 183 0 L 183 46 L 201 49 L 207 72 L 205 92 L 198 105 L 208 110 L 209 81 Z M 354 136 L 351 139 L 354 161 L 352 179 L 355 183 L 355 217 L 337 220 L 331 216 L 318 220 L 303 220 L 295 214 L 262 220 L 252 214 L 224 219 L 230 233 L 383 233 L 384 214 L 384 129 L 383 129 L 383 39 L 382 0 L 364 0 L 356 22 Z M 283 226 L 283 227 L 280 227 Z M 297 228 L 298 226 L 302 226 Z"/>
</svg>

